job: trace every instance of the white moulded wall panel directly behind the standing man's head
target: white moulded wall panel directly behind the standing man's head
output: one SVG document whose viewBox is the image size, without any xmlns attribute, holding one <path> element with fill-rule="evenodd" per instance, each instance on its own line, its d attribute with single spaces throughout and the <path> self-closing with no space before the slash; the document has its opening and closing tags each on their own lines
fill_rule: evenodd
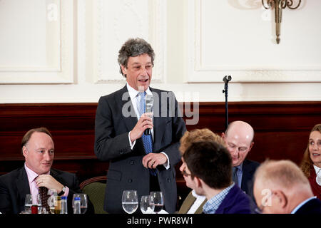
<svg viewBox="0 0 321 228">
<path fill-rule="evenodd" d="M 96 0 L 93 4 L 93 81 L 126 81 L 119 72 L 118 51 L 128 38 L 146 39 L 156 53 L 153 82 L 163 82 L 166 68 L 164 0 Z"/>
</svg>

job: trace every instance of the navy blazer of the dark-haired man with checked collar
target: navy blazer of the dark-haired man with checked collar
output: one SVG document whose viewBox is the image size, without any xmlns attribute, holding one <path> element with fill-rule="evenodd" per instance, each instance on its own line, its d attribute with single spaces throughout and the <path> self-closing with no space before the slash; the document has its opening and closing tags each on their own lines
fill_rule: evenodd
<svg viewBox="0 0 321 228">
<path fill-rule="evenodd" d="M 215 214 L 251 214 L 250 197 L 234 185 Z"/>
</svg>

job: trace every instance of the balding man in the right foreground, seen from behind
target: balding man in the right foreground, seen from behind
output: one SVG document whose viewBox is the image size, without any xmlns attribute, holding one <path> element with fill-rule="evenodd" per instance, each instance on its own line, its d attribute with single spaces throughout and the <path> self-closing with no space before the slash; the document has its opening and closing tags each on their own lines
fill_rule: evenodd
<svg viewBox="0 0 321 228">
<path fill-rule="evenodd" d="M 309 180 L 290 160 L 267 160 L 255 172 L 254 196 L 263 214 L 321 214 Z"/>
</svg>

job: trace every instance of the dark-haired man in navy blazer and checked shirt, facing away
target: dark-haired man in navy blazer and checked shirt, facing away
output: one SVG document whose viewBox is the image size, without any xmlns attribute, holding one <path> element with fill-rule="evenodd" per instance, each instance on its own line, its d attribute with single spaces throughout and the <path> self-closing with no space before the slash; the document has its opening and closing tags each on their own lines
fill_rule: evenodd
<svg viewBox="0 0 321 228">
<path fill-rule="evenodd" d="M 230 152 L 217 142 L 193 142 L 183 154 L 186 185 L 208 201 L 205 214 L 250 214 L 250 197 L 232 181 Z"/>
</svg>

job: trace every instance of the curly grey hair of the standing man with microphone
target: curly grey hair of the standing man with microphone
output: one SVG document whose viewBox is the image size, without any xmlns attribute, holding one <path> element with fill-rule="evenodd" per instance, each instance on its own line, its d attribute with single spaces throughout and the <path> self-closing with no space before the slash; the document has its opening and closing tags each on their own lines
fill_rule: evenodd
<svg viewBox="0 0 321 228">
<path fill-rule="evenodd" d="M 148 54 L 151 57 L 152 65 L 154 66 L 155 53 L 151 44 L 147 43 L 143 38 L 130 38 L 123 44 L 118 52 L 118 64 L 121 74 L 126 78 L 126 75 L 121 71 L 121 66 L 127 68 L 128 58 Z"/>
</svg>

